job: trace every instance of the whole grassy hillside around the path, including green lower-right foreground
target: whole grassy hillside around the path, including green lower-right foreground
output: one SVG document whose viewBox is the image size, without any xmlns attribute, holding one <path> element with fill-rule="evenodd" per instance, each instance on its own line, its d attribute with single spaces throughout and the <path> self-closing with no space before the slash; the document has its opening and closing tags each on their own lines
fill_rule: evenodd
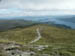
<svg viewBox="0 0 75 56">
<path fill-rule="evenodd" d="M 59 52 L 62 56 L 75 56 L 75 30 L 57 28 L 49 25 L 35 25 L 26 28 L 16 28 L 0 32 L 0 42 L 16 42 L 27 45 L 37 36 L 36 29 L 40 29 L 42 38 L 31 45 L 49 45 L 37 53 L 52 54 Z M 55 49 L 55 50 L 54 50 Z"/>
</svg>

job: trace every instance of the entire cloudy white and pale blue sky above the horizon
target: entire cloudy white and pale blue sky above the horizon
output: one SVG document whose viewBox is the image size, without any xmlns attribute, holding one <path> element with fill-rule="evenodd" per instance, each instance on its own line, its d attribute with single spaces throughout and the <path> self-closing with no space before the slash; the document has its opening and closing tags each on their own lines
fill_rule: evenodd
<svg viewBox="0 0 75 56">
<path fill-rule="evenodd" d="M 0 16 L 75 14 L 75 0 L 0 0 Z"/>
</svg>

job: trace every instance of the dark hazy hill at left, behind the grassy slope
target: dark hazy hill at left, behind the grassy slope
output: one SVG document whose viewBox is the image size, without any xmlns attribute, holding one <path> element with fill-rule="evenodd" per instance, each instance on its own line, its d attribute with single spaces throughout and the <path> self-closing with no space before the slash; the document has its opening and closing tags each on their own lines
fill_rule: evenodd
<svg viewBox="0 0 75 56">
<path fill-rule="evenodd" d="M 32 26 L 36 24 L 36 22 L 25 21 L 21 19 L 13 19 L 13 20 L 0 20 L 0 31 L 5 31 L 13 28 L 22 28 L 27 26 Z"/>
</svg>

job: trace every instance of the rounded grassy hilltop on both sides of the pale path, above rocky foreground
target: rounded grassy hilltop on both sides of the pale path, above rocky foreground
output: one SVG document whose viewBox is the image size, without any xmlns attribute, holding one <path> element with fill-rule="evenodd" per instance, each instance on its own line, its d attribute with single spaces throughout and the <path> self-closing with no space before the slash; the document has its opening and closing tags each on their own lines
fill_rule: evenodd
<svg viewBox="0 0 75 56">
<path fill-rule="evenodd" d="M 28 42 L 37 36 L 36 29 L 40 28 L 42 35 L 38 44 L 50 44 L 50 43 L 75 43 L 75 30 L 57 28 L 49 25 L 35 25 L 26 28 L 15 28 L 5 32 L 0 32 L 0 39 Z"/>
</svg>

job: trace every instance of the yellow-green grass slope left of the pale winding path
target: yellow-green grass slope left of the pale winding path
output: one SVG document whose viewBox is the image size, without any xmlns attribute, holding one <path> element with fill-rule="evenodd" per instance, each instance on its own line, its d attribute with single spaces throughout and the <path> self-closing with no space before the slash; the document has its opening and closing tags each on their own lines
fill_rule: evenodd
<svg viewBox="0 0 75 56">
<path fill-rule="evenodd" d="M 23 44 L 27 44 L 33 38 L 35 38 L 36 33 L 35 30 L 31 30 L 29 28 L 21 29 L 13 29 L 8 30 L 6 32 L 0 33 L 0 41 L 11 41 L 11 42 L 20 42 Z"/>
</svg>

